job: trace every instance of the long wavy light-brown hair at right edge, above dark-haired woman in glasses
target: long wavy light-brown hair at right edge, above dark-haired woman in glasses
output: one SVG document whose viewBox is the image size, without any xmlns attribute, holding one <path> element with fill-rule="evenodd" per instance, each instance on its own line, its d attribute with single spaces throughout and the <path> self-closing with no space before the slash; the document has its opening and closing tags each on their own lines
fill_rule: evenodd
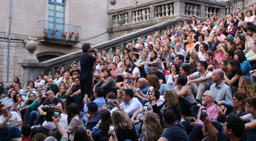
<svg viewBox="0 0 256 141">
<path fill-rule="evenodd" d="M 240 76 L 238 84 L 238 92 L 245 93 L 247 97 L 255 97 L 253 84 L 249 77 Z"/>
</svg>

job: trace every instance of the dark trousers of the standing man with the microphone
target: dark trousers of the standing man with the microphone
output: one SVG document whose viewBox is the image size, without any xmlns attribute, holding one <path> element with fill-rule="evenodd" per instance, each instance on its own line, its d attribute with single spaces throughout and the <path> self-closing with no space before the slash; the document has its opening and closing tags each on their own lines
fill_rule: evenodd
<svg viewBox="0 0 256 141">
<path fill-rule="evenodd" d="M 81 86 L 81 95 L 78 100 L 79 109 L 83 110 L 83 99 L 84 94 L 88 94 L 88 98 L 91 96 L 91 89 L 93 88 L 93 78 L 88 76 L 79 76 L 80 86 Z"/>
</svg>

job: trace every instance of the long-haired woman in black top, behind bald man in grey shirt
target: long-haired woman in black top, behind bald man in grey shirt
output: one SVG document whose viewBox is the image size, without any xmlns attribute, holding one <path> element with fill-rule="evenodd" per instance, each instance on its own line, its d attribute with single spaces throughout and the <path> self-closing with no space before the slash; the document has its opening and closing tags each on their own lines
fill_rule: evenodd
<svg viewBox="0 0 256 141">
<path fill-rule="evenodd" d="M 231 74 L 227 77 L 224 73 L 224 83 L 227 83 L 229 87 L 232 90 L 232 93 L 237 92 L 238 90 L 238 83 L 239 83 L 239 77 L 244 75 L 240 66 L 240 63 L 237 60 L 230 60 L 228 62 L 228 71 L 231 72 Z"/>
</svg>

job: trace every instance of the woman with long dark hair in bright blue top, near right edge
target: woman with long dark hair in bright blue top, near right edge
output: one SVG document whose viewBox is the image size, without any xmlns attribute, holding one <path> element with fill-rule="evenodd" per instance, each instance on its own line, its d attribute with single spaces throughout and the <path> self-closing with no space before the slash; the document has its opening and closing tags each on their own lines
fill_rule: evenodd
<svg viewBox="0 0 256 141">
<path fill-rule="evenodd" d="M 245 76 L 251 78 L 249 69 L 251 68 L 251 64 L 246 60 L 246 57 L 242 51 L 237 51 L 234 54 L 234 59 L 239 61 L 242 72 Z"/>
</svg>

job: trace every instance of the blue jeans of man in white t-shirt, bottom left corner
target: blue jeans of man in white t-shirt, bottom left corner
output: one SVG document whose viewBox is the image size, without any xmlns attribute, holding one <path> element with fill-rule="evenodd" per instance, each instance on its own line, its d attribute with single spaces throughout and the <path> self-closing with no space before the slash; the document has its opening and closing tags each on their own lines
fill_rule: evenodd
<svg viewBox="0 0 256 141">
<path fill-rule="evenodd" d="M 21 130 L 15 125 L 10 125 L 9 128 L 0 128 L 0 139 L 10 141 L 12 137 L 21 136 Z"/>
</svg>

